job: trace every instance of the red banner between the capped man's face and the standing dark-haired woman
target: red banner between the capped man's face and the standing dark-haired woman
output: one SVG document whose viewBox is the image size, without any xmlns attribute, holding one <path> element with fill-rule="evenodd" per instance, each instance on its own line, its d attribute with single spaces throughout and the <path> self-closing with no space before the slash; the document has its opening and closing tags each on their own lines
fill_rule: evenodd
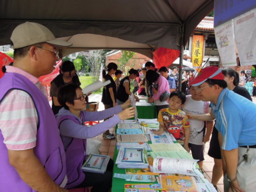
<svg viewBox="0 0 256 192">
<path fill-rule="evenodd" d="M 60 73 L 60 65 L 62 63 L 62 60 L 59 60 L 57 62 L 57 65 L 55 67 L 55 69 L 52 71 L 52 73 L 48 74 L 48 75 L 44 75 L 44 76 L 40 76 L 39 77 L 39 81 L 41 82 L 42 85 L 44 85 L 46 91 L 47 91 L 47 95 L 48 95 L 48 100 L 52 100 L 52 98 L 50 97 L 50 88 L 51 88 L 51 81 L 59 75 Z"/>
</svg>

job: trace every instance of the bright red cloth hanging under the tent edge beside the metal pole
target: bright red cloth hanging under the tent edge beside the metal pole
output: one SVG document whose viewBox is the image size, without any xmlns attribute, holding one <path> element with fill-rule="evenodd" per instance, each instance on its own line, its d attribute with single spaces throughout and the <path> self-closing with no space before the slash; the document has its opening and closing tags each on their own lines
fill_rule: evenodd
<svg viewBox="0 0 256 192">
<path fill-rule="evenodd" d="M 153 52 L 153 63 L 158 69 L 163 66 L 169 67 L 179 56 L 179 50 L 159 47 L 156 51 Z"/>
</svg>

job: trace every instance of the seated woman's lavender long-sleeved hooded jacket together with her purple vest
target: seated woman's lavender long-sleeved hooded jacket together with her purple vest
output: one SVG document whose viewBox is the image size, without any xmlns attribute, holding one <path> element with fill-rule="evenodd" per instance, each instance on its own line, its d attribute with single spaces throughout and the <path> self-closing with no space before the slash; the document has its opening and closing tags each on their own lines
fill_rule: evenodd
<svg viewBox="0 0 256 192">
<path fill-rule="evenodd" d="M 64 143 L 67 158 L 68 183 L 66 188 L 74 188 L 85 179 L 85 174 L 81 167 L 86 160 L 86 139 L 93 138 L 107 131 L 111 127 L 120 123 L 119 116 L 113 116 L 122 111 L 121 105 L 104 111 L 82 111 L 81 118 L 72 114 L 69 110 L 61 108 L 57 114 L 60 135 Z M 111 117 L 113 116 L 113 117 Z M 86 121 L 108 120 L 92 125 L 84 126 Z"/>
</svg>

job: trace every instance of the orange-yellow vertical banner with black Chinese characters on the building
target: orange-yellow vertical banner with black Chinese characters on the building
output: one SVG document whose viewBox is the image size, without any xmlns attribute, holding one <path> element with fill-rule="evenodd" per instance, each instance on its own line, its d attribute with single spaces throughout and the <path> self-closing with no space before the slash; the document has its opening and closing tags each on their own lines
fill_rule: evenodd
<svg viewBox="0 0 256 192">
<path fill-rule="evenodd" d="M 198 70 L 203 62 L 204 36 L 194 35 L 192 42 L 192 59 L 193 68 Z"/>
</svg>

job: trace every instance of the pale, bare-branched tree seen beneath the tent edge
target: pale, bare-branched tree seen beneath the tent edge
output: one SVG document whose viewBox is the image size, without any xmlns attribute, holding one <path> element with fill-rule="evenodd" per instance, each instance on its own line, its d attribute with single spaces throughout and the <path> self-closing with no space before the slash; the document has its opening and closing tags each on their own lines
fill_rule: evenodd
<svg viewBox="0 0 256 192">
<path fill-rule="evenodd" d="M 101 73 L 101 63 L 104 61 L 104 52 L 102 50 L 90 50 L 81 53 L 84 55 L 87 64 L 91 68 L 92 82 L 98 81 Z"/>
</svg>

